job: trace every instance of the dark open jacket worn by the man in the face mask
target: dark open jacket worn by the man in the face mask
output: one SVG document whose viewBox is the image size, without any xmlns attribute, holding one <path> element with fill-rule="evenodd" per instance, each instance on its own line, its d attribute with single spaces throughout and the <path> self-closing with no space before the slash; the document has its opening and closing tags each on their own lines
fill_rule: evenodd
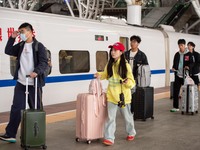
<svg viewBox="0 0 200 150">
<path fill-rule="evenodd" d="M 33 60 L 34 60 L 34 70 L 33 70 L 33 72 L 38 74 L 38 87 L 42 87 L 42 86 L 45 85 L 44 72 L 45 72 L 45 70 L 48 66 L 47 54 L 46 54 L 45 47 L 40 42 L 38 44 L 38 51 L 35 52 L 36 41 L 37 40 L 34 38 L 33 44 L 32 44 Z M 10 56 L 15 56 L 15 57 L 17 57 L 17 60 L 20 60 L 21 53 L 23 51 L 25 42 L 20 42 L 20 43 L 13 46 L 14 42 L 15 42 L 15 38 L 10 37 L 8 39 L 8 42 L 7 42 L 6 48 L 5 48 L 5 53 L 7 55 L 10 55 Z M 15 74 L 14 74 L 14 80 L 18 79 L 19 68 L 20 68 L 20 62 L 17 61 L 16 71 L 15 71 Z"/>
</svg>

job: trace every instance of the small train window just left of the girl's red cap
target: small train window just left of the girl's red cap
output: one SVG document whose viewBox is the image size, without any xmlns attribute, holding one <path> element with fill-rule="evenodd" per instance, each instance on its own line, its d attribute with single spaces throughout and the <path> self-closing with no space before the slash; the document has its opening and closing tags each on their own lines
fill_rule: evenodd
<svg viewBox="0 0 200 150">
<path fill-rule="evenodd" d="M 103 71 L 108 62 L 108 52 L 107 51 L 97 51 L 96 52 L 96 69 L 97 71 Z"/>
</svg>

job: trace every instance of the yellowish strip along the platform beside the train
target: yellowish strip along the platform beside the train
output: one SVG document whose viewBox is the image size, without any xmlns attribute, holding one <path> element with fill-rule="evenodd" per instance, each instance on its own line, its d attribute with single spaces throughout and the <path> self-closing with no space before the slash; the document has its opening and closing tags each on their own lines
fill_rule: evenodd
<svg viewBox="0 0 200 150">
<path fill-rule="evenodd" d="M 159 100 L 162 98 L 169 97 L 169 94 L 170 94 L 169 92 L 154 94 L 154 100 Z M 46 116 L 46 123 L 49 124 L 49 123 L 69 120 L 75 117 L 76 117 L 76 110 L 54 113 Z M 0 124 L 0 133 L 5 132 L 6 125 L 7 123 Z"/>
</svg>

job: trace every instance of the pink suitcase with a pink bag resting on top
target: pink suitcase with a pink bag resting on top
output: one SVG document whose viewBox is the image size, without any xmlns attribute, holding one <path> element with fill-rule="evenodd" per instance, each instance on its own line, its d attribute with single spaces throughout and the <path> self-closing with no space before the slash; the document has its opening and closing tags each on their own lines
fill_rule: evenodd
<svg viewBox="0 0 200 150">
<path fill-rule="evenodd" d="M 106 95 L 97 79 L 92 80 L 90 93 L 77 96 L 76 103 L 76 141 L 103 138 L 104 124 L 107 119 Z"/>
</svg>

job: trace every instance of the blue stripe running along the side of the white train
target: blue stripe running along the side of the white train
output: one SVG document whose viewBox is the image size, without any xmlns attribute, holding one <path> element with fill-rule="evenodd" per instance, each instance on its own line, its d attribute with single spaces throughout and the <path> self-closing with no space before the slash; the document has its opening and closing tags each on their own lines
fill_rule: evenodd
<svg viewBox="0 0 200 150">
<path fill-rule="evenodd" d="M 171 71 L 170 71 L 171 72 Z M 165 70 L 151 70 L 151 74 L 164 74 Z M 172 73 L 172 72 L 171 72 Z M 46 78 L 46 83 L 57 83 L 57 82 L 71 82 L 80 80 L 91 80 L 93 74 L 81 74 L 81 75 L 68 75 L 68 76 L 50 76 Z M 12 79 L 0 80 L 0 87 L 15 86 L 16 81 Z"/>
</svg>

